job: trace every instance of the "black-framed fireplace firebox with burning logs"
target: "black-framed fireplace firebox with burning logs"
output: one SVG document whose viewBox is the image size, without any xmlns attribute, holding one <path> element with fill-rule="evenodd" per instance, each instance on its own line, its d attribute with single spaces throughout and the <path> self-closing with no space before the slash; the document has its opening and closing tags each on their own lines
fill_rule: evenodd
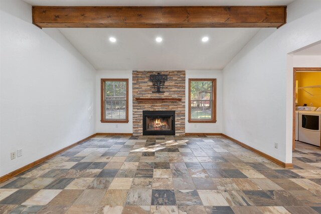
<svg viewBox="0 0 321 214">
<path fill-rule="evenodd" d="M 142 111 L 142 135 L 175 135 L 175 111 Z"/>
</svg>

